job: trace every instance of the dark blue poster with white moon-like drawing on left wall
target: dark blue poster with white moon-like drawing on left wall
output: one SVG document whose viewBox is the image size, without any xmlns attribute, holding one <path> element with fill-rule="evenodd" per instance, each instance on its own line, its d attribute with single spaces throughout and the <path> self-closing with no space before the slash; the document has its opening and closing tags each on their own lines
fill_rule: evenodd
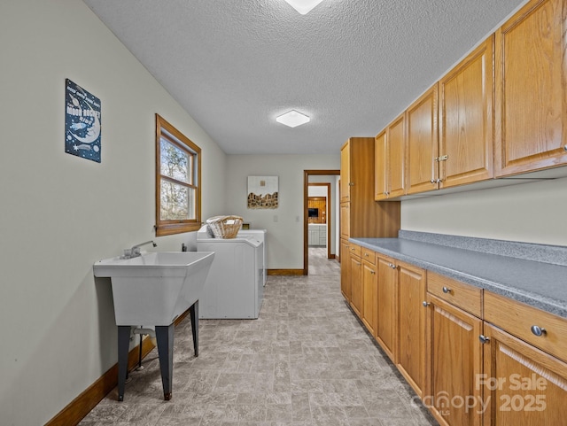
<svg viewBox="0 0 567 426">
<path fill-rule="evenodd" d="M 65 81 L 65 151 L 100 163 L 100 99 Z"/>
</svg>

